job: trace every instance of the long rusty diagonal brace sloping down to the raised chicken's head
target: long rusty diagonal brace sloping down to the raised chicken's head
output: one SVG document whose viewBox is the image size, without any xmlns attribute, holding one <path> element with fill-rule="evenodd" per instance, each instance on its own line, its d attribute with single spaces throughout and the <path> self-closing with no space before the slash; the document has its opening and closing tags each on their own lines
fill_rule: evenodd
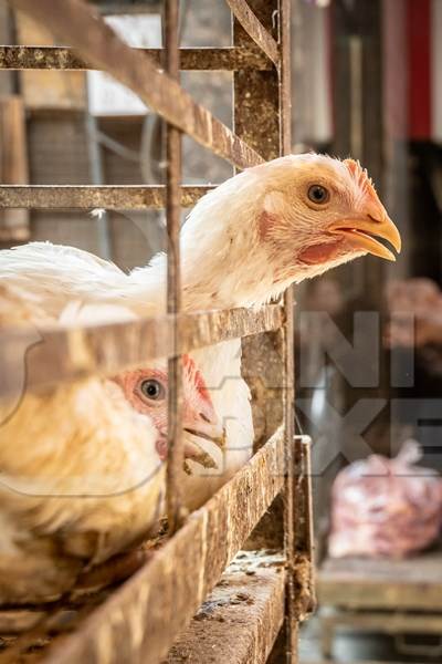
<svg viewBox="0 0 442 664">
<path fill-rule="evenodd" d="M 207 108 L 197 104 L 144 53 L 124 43 L 81 0 L 9 0 L 42 23 L 46 30 L 72 45 L 90 66 L 102 69 L 133 90 L 152 111 L 187 133 L 215 155 L 239 168 L 255 166 L 262 157 L 235 136 Z"/>
</svg>

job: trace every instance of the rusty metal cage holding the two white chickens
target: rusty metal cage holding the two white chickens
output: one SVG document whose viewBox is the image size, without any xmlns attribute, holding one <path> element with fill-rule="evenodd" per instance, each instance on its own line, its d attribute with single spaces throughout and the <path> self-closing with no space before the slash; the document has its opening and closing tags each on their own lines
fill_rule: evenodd
<svg viewBox="0 0 442 664">
<path fill-rule="evenodd" d="M 265 569 L 261 577 L 255 572 L 243 573 L 243 584 L 252 594 L 252 603 L 253 592 L 257 592 L 256 578 L 261 578 L 265 592 L 255 596 L 257 609 L 252 612 L 251 624 L 243 622 L 238 626 L 239 632 L 249 634 L 245 650 L 238 647 L 235 658 L 231 655 L 229 658 L 265 662 L 281 633 L 282 654 L 277 658 L 274 653 L 272 661 L 297 661 L 297 625 L 312 609 L 314 589 L 309 450 L 305 440 L 294 437 L 293 430 L 292 292 L 286 292 L 283 302 L 259 311 L 182 313 L 180 310 L 180 207 L 192 205 L 209 189 L 208 186 L 181 186 L 182 134 L 239 169 L 287 154 L 291 148 L 291 0 L 227 1 L 233 19 L 232 48 L 179 49 L 179 2 L 165 0 L 165 49 L 141 51 L 120 41 L 82 0 L 10 0 L 14 9 L 28 12 L 74 50 L 3 45 L 0 46 L 0 69 L 99 69 L 131 89 L 167 122 L 165 187 L 2 185 L 0 208 L 166 207 L 167 314 L 92 329 L 48 331 L 28 388 L 75 381 L 94 373 L 108 375 L 147 360 L 169 357 L 170 537 L 151 560 L 114 592 L 97 595 L 83 605 L 52 606 L 36 626 L 17 639 L 6 640 L 0 662 L 18 662 L 25 656 L 32 661 L 75 664 L 141 661 L 159 664 L 165 657 L 181 662 L 178 646 L 170 651 L 171 646 L 177 639 L 181 646 L 186 644 L 183 630 L 194 629 L 192 616 L 223 573 L 218 592 L 222 589 L 229 592 L 231 575 L 224 570 L 254 529 L 252 543 L 255 548 L 278 549 L 280 566 Z M 165 71 L 158 68 L 159 62 Z M 233 73 L 234 132 L 181 89 L 180 69 Z M 272 366 L 264 363 L 262 376 L 265 383 L 272 375 L 282 387 L 264 395 L 269 406 L 269 439 L 263 440 L 252 460 L 209 502 L 183 519 L 177 483 L 177 470 L 182 465 L 180 355 L 240 336 L 244 338 L 245 375 L 248 363 L 262 356 L 266 344 L 276 351 L 277 360 Z M 12 363 L 19 341 L 17 333 L 12 338 L 2 336 L 2 343 L 10 344 Z M 275 473 L 275 468 L 283 471 Z M 187 560 L 192 561 L 192 569 L 186 564 Z M 193 569 L 199 570 L 198 582 L 194 582 Z M 238 583 L 234 588 L 238 593 Z M 65 625 L 54 627 L 54 611 L 61 609 L 76 615 L 67 629 Z M 244 642 L 243 633 L 236 634 L 235 642 L 235 633 L 225 620 L 225 615 L 220 619 L 220 625 L 225 625 L 223 632 L 220 627 L 215 645 L 200 639 L 193 642 L 185 660 L 208 662 L 208 652 L 213 654 L 210 649 L 217 647 L 215 658 L 210 661 L 225 662 L 228 655 L 221 647 L 222 642 L 233 640 L 233 650 Z"/>
</svg>

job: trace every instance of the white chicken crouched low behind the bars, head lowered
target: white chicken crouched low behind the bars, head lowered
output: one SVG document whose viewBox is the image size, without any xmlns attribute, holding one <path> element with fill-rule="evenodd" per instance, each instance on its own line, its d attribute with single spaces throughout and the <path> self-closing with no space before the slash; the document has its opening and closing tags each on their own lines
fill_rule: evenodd
<svg viewBox="0 0 442 664">
<path fill-rule="evenodd" d="M 77 322 L 70 309 L 64 324 Z M 97 305 L 93 315 L 103 321 L 109 313 Z M 3 334 L 6 322 L 27 330 L 30 322 L 53 323 L 35 298 L 3 284 Z M 166 394 L 167 375 L 148 367 L 24 391 L 12 407 L 0 402 L 0 603 L 52 601 L 85 568 L 148 535 L 164 511 Z M 186 456 L 210 465 L 193 439 L 221 426 L 189 357 L 183 403 Z"/>
</svg>

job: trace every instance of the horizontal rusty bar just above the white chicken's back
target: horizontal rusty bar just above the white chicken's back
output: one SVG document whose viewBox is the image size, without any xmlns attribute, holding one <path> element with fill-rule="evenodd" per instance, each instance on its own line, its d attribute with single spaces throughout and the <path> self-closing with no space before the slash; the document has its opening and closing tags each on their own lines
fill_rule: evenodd
<svg viewBox="0 0 442 664">
<path fill-rule="evenodd" d="M 181 207 L 192 207 L 214 187 L 181 187 Z M 164 207 L 165 186 L 0 185 L 0 208 L 145 210 Z"/>
</svg>

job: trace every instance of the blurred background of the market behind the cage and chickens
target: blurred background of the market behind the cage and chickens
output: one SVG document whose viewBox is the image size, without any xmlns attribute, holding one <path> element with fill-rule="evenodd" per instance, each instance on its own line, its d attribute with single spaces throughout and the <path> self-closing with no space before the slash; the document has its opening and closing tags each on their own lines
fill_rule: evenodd
<svg viewBox="0 0 442 664">
<path fill-rule="evenodd" d="M 131 45 L 161 45 L 160 2 L 95 4 Z M 227 3 L 181 6 L 182 46 L 231 44 Z M 401 559 L 351 558 L 350 546 L 343 560 L 329 558 L 327 538 L 332 486 L 348 464 L 373 453 L 394 457 L 413 438 L 420 466 L 442 467 L 442 0 L 293 6 L 293 152 L 360 159 L 403 238 L 394 264 L 355 261 L 296 292 L 296 409 L 299 428 L 314 439 L 320 603 L 302 655 L 306 662 L 441 662 L 436 537 Z M 53 42 L 0 3 L 0 43 Z M 182 72 L 181 82 L 231 126 L 230 73 Z M 183 144 L 185 183 L 217 184 L 232 174 L 187 137 Z M 1 72 L 3 184 L 157 184 L 160 146 L 156 116 L 106 74 Z M 0 210 L 0 247 L 29 240 L 74 245 L 130 269 L 164 248 L 164 217 Z M 400 538 L 400 528 L 394 532 Z"/>
</svg>

